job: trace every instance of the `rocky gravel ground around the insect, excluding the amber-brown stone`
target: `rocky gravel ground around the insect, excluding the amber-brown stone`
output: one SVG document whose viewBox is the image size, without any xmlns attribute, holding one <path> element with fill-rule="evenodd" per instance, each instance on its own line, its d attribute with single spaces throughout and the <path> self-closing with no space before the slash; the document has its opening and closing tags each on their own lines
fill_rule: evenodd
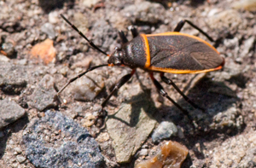
<svg viewBox="0 0 256 168">
<path fill-rule="evenodd" d="M 182 167 L 255 167 L 255 6 L 254 0 L 0 1 L 0 166 L 134 167 L 172 140 L 189 149 Z M 140 69 L 108 102 L 102 129 L 101 103 L 129 67 L 89 72 L 58 99 L 68 79 L 108 61 L 60 14 L 107 53 L 119 46 L 118 30 L 131 39 L 132 25 L 143 33 L 172 32 L 187 19 L 207 32 L 224 68 L 166 74 L 206 112 L 163 84 L 196 128 Z M 189 25 L 181 32 L 207 40 Z"/>
</svg>

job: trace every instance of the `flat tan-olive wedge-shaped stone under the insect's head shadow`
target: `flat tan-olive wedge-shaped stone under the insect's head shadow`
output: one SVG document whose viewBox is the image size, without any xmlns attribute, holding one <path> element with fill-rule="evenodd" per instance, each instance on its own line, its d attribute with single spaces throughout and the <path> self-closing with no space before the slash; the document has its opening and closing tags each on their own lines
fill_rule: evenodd
<svg viewBox="0 0 256 168">
<path fill-rule="evenodd" d="M 132 90 L 137 90 L 134 86 Z M 117 113 L 108 115 L 108 134 L 113 139 L 118 163 L 129 162 L 154 130 L 156 121 L 151 117 L 155 112 L 154 102 L 147 97 L 147 94 L 137 96 L 122 103 Z"/>
</svg>

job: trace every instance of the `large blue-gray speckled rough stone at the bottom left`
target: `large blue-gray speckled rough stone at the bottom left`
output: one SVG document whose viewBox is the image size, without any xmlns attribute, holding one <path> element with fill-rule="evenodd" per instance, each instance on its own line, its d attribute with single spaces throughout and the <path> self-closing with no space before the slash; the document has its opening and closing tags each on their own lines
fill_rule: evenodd
<svg viewBox="0 0 256 168">
<path fill-rule="evenodd" d="M 49 138 L 44 138 L 49 136 Z M 103 167 L 95 139 L 73 119 L 47 111 L 28 125 L 22 136 L 26 158 L 36 167 Z"/>
</svg>

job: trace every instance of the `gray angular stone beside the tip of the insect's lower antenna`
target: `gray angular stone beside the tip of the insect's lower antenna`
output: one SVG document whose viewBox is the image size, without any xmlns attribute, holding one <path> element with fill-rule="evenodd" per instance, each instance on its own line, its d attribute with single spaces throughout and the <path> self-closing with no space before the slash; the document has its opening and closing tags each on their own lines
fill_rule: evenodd
<svg viewBox="0 0 256 168">
<path fill-rule="evenodd" d="M 54 78 L 46 74 L 33 91 L 28 104 L 39 111 L 43 111 L 45 108 L 57 106 L 55 95 Z"/>
</svg>

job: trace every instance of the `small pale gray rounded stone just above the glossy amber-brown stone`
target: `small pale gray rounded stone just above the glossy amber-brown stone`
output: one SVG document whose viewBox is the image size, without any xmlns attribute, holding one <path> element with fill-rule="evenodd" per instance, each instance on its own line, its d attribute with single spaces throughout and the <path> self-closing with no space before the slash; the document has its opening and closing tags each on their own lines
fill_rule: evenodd
<svg viewBox="0 0 256 168">
<path fill-rule="evenodd" d="M 177 126 L 172 122 L 163 121 L 157 129 L 154 130 L 152 141 L 160 142 L 161 140 L 170 138 L 171 136 L 177 136 Z"/>
</svg>

